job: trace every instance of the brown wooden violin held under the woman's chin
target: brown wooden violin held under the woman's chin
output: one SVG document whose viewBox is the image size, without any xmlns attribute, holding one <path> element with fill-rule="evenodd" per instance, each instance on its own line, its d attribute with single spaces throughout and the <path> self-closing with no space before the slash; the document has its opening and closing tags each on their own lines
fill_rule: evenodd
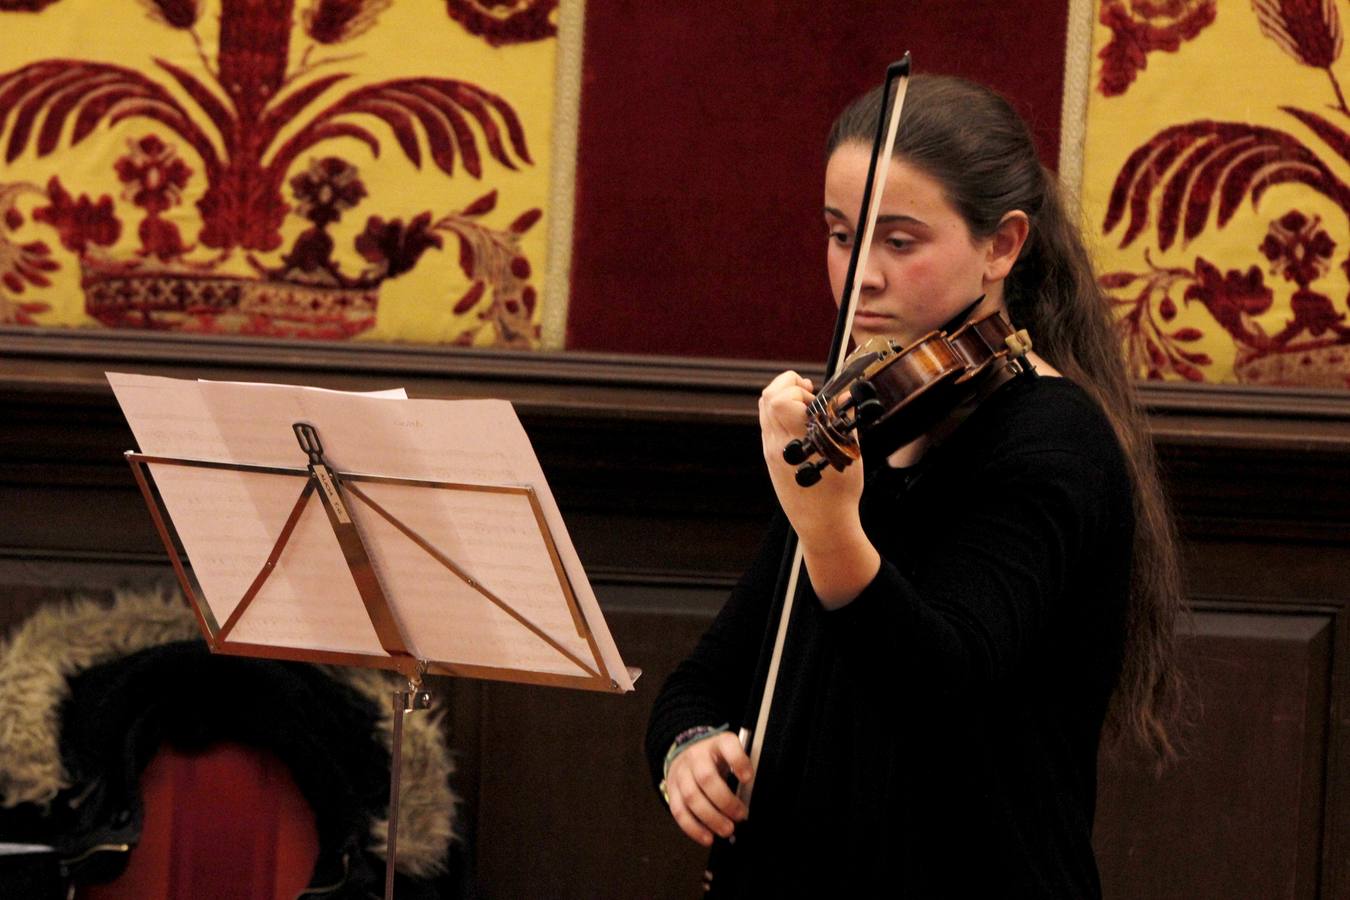
<svg viewBox="0 0 1350 900">
<path fill-rule="evenodd" d="M 909 347 L 872 337 L 807 405 L 806 436 L 788 443 L 783 459 L 798 467 L 796 483 L 810 487 L 826 467 L 844 471 L 859 459 L 864 433 L 887 449 L 905 447 L 953 410 L 979 402 L 1014 375 L 1031 372 L 1030 349 L 1026 329 L 1013 331 L 998 310 L 952 333 L 946 327 L 932 331 Z"/>
</svg>

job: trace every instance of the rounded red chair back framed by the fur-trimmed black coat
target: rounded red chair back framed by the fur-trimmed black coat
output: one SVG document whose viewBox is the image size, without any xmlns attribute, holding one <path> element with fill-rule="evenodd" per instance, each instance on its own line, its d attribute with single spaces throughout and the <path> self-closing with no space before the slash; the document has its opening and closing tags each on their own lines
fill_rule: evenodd
<svg viewBox="0 0 1350 900">
<path fill-rule="evenodd" d="M 290 770 L 224 743 L 163 749 L 140 779 L 144 828 L 127 870 L 85 900 L 293 900 L 309 884 L 319 835 Z"/>
</svg>

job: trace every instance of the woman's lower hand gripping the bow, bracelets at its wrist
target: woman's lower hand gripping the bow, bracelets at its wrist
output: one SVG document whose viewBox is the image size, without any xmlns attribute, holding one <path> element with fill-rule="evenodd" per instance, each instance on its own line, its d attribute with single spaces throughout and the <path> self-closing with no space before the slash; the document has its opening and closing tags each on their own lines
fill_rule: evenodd
<svg viewBox="0 0 1350 900">
<path fill-rule="evenodd" d="M 705 847 L 711 846 L 714 834 L 732 837 L 736 823 L 747 815 L 745 804 L 726 787 L 728 773 L 741 784 L 755 776 L 740 739 L 729 731 L 688 745 L 671 760 L 666 773 L 671 815 L 684 834 Z"/>
</svg>

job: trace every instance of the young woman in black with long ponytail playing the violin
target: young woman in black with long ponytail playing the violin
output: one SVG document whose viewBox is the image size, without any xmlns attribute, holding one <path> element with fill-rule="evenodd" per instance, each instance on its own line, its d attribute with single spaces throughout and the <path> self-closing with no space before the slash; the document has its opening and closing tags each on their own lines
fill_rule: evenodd
<svg viewBox="0 0 1350 900">
<path fill-rule="evenodd" d="M 829 138 L 837 302 L 879 111 L 876 89 Z M 1038 374 L 810 488 L 782 451 L 814 386 L 764 389 L 783 517 L 656 700 L 653 781 L 694 841 L 737 834 L 740 896 L 1100 896 L 1103 727 L 1172 753 L 1177 565 L 1107 301 L 1006 100 L 913 78 L 860 279 L 856 341 L 907 344 L 983 296 L 972 316 L 1026 328 Z M 787 524 L 809 586 L 752 772 L 736 730 Z M 744 826 L 728 773 L 753 779 Z"/>
</svg>

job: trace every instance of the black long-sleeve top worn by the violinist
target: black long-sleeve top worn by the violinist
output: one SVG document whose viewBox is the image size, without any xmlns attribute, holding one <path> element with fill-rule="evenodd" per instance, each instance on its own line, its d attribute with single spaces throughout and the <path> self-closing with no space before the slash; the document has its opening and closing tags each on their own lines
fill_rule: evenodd
<svg viewBox="0 0 1350 900">
<path fill-rule="evenodd" d="M 1068 379 L 1014 379 L 919 466 L 872 471 L 861 515 L 882 568 L 838 610 L 809 584 L 796 604 L 733 893 L 1100 896 L 1134 529 L 1104 414 Z M 784 537 L 780 517 L 662 688 L 653 783 L 684 729 L 741 725 Z"/>
</svg>

